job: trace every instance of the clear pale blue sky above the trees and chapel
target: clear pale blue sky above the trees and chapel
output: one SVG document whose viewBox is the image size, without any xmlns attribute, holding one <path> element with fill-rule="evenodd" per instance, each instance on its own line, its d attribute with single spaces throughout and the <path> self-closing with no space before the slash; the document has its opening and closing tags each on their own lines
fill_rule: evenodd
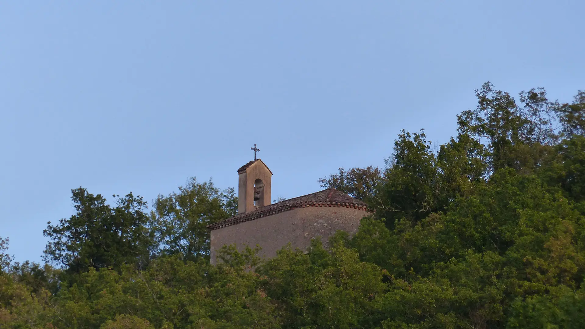
<svg viewBox="0 0 585 329">
<path fill-rule="evenodd" d="M 40 261 L 71 189 L 151 201 L 190 176 L 273 199 L 384 165 L 400 129 L 443 143 L 486 81 L 585 89 L 585 1 L 3 1 L 0 236 Z"/>
</svg>

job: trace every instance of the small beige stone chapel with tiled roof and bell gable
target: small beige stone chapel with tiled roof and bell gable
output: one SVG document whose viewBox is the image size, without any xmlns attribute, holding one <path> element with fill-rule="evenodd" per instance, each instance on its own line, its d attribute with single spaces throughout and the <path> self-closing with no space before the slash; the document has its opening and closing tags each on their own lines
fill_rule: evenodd
<svg viewBox="0 0 585 329">
<path fill-rule="evenodd" d="M 324 245 L 338 229 L 355 234 L 367 215 L 366 204 L 335 189 L 270 203 L 272 172 L 260 159 L 238 169 L 238 215 L 209 225 L 211 263 L 223 245 L 259 245 L 259 256 L 273 257 L 289 242 L 305 249 L 311 239 Z"/>
</svg>

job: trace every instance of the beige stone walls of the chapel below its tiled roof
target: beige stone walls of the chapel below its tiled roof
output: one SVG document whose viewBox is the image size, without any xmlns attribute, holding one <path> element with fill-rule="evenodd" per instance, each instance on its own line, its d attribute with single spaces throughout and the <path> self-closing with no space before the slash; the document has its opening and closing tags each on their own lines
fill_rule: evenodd
<svg viewBox="0 0 585 329">
<path fill-rule="evenodd" d="M 251 248 L 259 245 L 260 256 L 273 257 L 276 251 L 291 242 L 292 248 L 305 249 L 311 239 L 321 237 L 326 245 L 329 237 L 340 229 L 355 234 L 360 220 L 368 213 L 346 207 L 305 207 L 241 222 L 211 231 L 211 263 L 223 245 L 235 243 Z"/>
</svg>

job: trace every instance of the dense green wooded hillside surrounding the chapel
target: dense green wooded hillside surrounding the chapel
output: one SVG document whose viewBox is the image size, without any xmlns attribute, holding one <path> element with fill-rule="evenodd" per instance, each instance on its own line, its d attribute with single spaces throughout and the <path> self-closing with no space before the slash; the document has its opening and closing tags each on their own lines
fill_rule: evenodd
<svg viewBox="0 0 585 329">
<path fill-rule="evenodd" d="M 233 189 L 191 179 L 150 212 L 73 190 L 46 265 L 0 238 L 0 328 L 585 328 L 585 92 L 476 95 L 448 143 L 402 131 L 386 167 L 319 180 L 375 211 L 327 248 L 212 266 Z"/>
</svg>

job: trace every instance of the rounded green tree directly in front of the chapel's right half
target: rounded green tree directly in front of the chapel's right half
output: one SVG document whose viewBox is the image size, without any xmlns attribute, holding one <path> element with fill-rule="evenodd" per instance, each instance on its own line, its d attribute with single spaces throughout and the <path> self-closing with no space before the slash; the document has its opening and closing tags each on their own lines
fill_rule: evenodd
<svg viewBox="0 0 585 329">
<path fill-rule="evenodd" d="M 308 253 L 289 246 L 257 272 L 283 328 L 371 328 L 377 323 L 376 298 L 385 290 L 382 272 L 342 245 L 328 251 L 314 240 Z"/>
</svg>

